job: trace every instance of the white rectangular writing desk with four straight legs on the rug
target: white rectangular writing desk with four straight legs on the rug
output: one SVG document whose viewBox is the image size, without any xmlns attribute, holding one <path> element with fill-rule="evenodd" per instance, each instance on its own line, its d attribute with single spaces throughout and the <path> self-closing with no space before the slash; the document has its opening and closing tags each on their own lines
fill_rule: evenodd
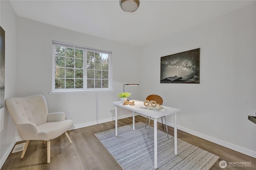
<svg viewBox="0 0 256 170">
<path fill-rule="evenodd" d="M 146 116 L 149 116 L 154 119 L 154 168 L 157 169 L 157 119 L 160 117 L 168 116 L 174 114 L 174 154 L 177 155 L 177 115 L 176 113 L 180 112 L 180 109 L 162 106 L 164 109 L 161 109 L 160 111 L 153 111 L 150 109 L 142 109 L 140 107 L 144 106 L 143 101 L 135 101 L 135 105 L 122 105 L 120 101 L 113 102 L 115 105 L 115 117 L 116 117 L 116 136 L 117 136 L 117 107 L 123 107 L 125 109 L 128 109 L 132 111 L 132 128 L 135 130 L 135 118 L 134 113 L 140 113 Z"/>
</svg>

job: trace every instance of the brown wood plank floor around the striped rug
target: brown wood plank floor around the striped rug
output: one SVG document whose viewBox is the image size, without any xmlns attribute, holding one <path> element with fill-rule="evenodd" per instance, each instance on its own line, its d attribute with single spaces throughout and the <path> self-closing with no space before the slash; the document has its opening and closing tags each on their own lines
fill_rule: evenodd
<svg viewBox="0 0 256 170">
<path fill-rule="evenodd" d="M 145 123 L 146 118 L 136 116 L 135 121 Z M 153 122 L 151 121 L 151 126 L 153 126 Z M 120 119 L 118 120 L 118 127 L 131 123 L 132 117 Z M 96 132 L 112 128 L 115 128 L 114 121 L 70 130 L 68 134 L 73 141 L 72 144 L 69 143 L 65 134 L 51 140 L 51 162 L 49 164 L 46 163 L 46 144 L 42 144 L 42 141 L 32 140 L 28 145 L 24 158 L 20 159 L 21 152 L 10 153 L 1 170 L 122 170 L 116 160 L 94 136 Z M 158 123 L 158 129 L 162 130 L 162 124 Z M 166 132 L 166 130 L 163 131 Z M 168 127 L 168 132 L 173 135 L 173 128 Z M 225 160 L 227 164 L 229 162 L 252 162 L 249 167 L 227 166 L 224 170 L 256 169 L 256 159 L 240 152 L 180 130 L 178 130 L 178 138 L 219 156 L 220 159 L 212 166 L 211 170 L 222 170 L 223 168 L 219 166 L 221 160 Z M 22 142 L 25 141 L 17 142 L 17 144 Z"/>
</svg>

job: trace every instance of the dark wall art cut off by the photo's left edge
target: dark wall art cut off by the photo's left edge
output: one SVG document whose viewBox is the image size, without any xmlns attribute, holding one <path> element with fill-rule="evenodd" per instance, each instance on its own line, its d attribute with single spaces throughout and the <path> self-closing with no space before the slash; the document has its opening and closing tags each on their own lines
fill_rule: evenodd
<svg viewBox="0 0 256 170">
<path fill-rule="evenodd" d="M 5 32 L 0 26 L 0 109 L 4 107 Z"/>
</svg>

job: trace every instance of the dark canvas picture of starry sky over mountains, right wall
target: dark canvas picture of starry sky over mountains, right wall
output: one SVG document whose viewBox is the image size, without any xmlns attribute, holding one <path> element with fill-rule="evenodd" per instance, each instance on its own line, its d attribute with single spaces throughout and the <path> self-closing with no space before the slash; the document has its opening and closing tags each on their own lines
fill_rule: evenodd
<svg viewBox="0 0 256 170">
<path fill-rule="evenodd" d="M 200 82 L 200 48 L 161 57 L 160 83 Z"/>
</svg>

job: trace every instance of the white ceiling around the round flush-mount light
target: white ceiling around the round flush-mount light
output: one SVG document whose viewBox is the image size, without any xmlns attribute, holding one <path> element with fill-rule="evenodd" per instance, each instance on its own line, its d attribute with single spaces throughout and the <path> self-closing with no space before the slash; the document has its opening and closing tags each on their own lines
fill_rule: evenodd
<svg viewBox="0 0 256 170">
<path fill-rule="evenodd" d="M 140 0 L 124 12 L 119 0 L 11 0 L 17 16 L 116 42 L 144 46 L 255 2 Z"/>
</svg>

